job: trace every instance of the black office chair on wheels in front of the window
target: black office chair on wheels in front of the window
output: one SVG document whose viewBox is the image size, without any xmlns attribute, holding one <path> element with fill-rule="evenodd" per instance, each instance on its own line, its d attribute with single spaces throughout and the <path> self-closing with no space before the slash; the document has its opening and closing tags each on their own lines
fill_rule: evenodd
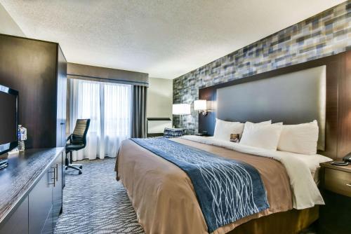
<svg viewBox="0 0 351 234">
<path fill-rule="evenodd" d="M 83 166 L 81 164 L 72 164 L 72 151 L 79 151 L 84 149 L 86 146 L 86 134 L 88 133 L 90 125 L 90 119 L 77 119 L 76 126 L 74 131 L 69 137 L 67 137 L 66 142 L 69 141 L 69 144 L 66 144 L 66 170 L 72 168 L 79 171 L 81 174 L 81 169 Z M 68 161 L 68 153 L 70 154 L 70 160 Z"/>
</svg>

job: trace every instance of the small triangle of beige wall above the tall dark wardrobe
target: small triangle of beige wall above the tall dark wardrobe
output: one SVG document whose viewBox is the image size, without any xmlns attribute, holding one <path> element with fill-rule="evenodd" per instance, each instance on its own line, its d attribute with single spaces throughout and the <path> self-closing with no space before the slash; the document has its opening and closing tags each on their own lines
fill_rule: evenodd
<svg viewBox="0 0 351 234">
<path fill-rule="evenodd" d="M 11 18 L 11 15 L 0 4 L 0 34 L 9 34 L 14 36 L 25 36 L 20 27 Z"/>
</svg>

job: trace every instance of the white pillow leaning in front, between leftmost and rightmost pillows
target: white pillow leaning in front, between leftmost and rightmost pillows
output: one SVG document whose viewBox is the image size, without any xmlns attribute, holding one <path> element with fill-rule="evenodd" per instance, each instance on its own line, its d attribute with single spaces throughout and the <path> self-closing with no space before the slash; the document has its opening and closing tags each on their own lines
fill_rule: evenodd
<svg viewBox="0 0 351 234">
<path fill-rule="evenodd" d="M 277 150 L 282 125 L 269 123 L 245 123 L 239 144 L 262 149 Z"/>
</svg>

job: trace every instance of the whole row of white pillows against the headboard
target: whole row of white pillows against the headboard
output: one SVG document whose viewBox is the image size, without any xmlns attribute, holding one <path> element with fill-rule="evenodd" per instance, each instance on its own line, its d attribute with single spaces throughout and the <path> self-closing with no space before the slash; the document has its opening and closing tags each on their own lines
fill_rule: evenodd
<svg viewBox="0 0 351 234">
<path fill-rule="evenodd" d="M 317 121 L 297 125 L 283 125 L 265 121 L 261 123 L 228 122 L 216 118 L 213 137 L 230 141 L 231 134 L 241 136 L 239 144 L 261 149 L 316 154 L 318 142 Z"/>
</svg>

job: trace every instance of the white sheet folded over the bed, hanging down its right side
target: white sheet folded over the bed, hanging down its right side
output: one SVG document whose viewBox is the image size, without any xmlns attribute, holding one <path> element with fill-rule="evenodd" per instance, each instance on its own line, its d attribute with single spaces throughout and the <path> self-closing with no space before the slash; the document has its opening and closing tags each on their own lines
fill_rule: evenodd
<svg viewBox="0 0 351 234">
<path fill-rule="evenodd" d="M 305 209 L 314 205 L 324 205 L 321 193 L 314 183 L 311 173 L 319 167 L 319 163 L 330 161 L 331 158 L 315 155 L 301 155 L 285 151 L 271 151 L 251 146 L 244 146 L 233 142 L 214 139 L 213 137 L 183 136 L 183 139 L 203 144 L 211 144 L 226 149 L 232 149 L 241 153 L 249 153 L 255 156 L 273 158 L 281 162 L 286 168 L 290 178 L 291 190 L 293 191 L 293 207 Z"/>
</svg>

